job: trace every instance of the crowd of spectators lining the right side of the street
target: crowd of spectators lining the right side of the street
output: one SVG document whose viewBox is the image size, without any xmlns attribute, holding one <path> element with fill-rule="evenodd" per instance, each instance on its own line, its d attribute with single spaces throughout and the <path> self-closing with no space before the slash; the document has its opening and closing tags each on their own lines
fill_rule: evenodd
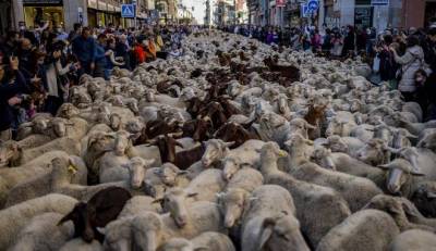
<svg viewBox="0 0 436 251">
<path fill-rule="evenodd" d="M 373 68 L 370 80 L 401 91 L 405 101 L 420 103 L 426 121 L 436 120 L 436 25 L 428 28 L 375 28 L 353 26 L 322 30 L 303 28 L 256 27 L 247 25 L 220 27 L 262 42 L 313 51 L 329 59 L 361 57 Z"/>
</svg>

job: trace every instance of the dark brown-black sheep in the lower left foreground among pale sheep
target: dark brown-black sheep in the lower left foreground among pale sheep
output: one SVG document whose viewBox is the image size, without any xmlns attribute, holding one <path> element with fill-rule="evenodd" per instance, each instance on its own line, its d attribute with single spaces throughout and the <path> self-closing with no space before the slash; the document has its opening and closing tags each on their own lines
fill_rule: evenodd
<svg viewBox="0 0 436 251">
<path fill-rule="evenodd" d="M 97 230 L 97 227 L 105 227 L 116 219 L 131 198 L 130 192 L 123 188 L 105 188 L 94 194 L 87 203 L 78 202 L 73 211 L 61 218 L 58 225 L 72 221 L 74 238 L 82 237 L 86 242 L 92 242 L 94 239 L 102 242 L 105 237 Z"/>
</svg>

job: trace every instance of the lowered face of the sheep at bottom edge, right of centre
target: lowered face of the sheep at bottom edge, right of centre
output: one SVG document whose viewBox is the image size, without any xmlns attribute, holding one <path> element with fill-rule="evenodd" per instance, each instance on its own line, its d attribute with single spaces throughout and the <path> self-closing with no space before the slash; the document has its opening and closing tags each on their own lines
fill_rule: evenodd
<svg viewBox="0 0 436 251">
<path fill-rule="evenodd" d="M 308 247 L 300 231 L 300 223 L 293 215 L 267 217 L 262 224 L 259 250 L 268 247 L 269 250 L 302 250 L 308 251 Z"/>
</svg>

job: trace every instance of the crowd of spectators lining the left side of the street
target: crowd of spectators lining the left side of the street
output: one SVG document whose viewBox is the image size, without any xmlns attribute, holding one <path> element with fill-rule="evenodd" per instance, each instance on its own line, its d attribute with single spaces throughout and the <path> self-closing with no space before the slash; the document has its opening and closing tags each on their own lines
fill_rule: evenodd
<svg viewBox="0 0 436 251">
<path fill-rule="evenodd" d="M 83 74 L 109 79 L 114 66 L 133 70 L 157 58 L 183 54 L 190 26 L 105 28 L 61 26 L 41 22 L 0 38 L 0 142 L 13 138 L 19 125 L 37 112 L 56 114 L 69 89 Z"/>
</svg>

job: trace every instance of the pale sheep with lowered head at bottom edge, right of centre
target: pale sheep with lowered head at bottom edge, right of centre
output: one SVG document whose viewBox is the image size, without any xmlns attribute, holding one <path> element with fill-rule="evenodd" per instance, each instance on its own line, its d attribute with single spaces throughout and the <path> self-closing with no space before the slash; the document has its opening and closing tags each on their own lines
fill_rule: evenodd
<svg viewBox="0 0 436 251">
<path fill-rule="evenodd" d="M 243 216 L 242 250 L 310 250 L 300 233 L 295 206 L 288 190 L 264 185 L 252 192 Z"/>
</svg>

